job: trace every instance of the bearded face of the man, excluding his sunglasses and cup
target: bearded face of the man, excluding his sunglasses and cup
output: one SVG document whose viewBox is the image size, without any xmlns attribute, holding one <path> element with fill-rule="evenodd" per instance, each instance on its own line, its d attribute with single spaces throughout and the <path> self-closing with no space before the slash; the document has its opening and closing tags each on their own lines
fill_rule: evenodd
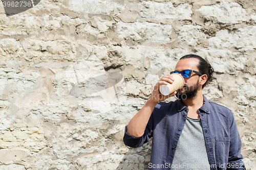
<svg viewBox="0 0 256 170">
<path fill-rule="evenodd" d="M 198 64 L 199 60 L 195 58 L 182 59 L 176 64 L 175 70 L 182 71 L 186 69 L 192 69 L 199 71 L 197 68 Z M 181 100 L 195 98 L 199 89 L 199 75 L 195 72 L 192 72 L 191 76 L 189 78 L 184 78 L 184 80 L 184 86 L 180 90 L 177 90 L 177 98 Z"/>
</svg>

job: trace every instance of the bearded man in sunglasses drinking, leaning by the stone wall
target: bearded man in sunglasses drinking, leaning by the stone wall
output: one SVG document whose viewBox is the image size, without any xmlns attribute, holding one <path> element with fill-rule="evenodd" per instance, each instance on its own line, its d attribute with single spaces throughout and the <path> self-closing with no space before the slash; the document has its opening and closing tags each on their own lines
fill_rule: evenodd
<svg viewBox="0 0 256 170">
<path fill-rule="evenodd" d="M 183 76 L 185 85 L 164 96 L 159 87 L 173 83 L 173 72 Z M 130 147 L 141 147 L 153 137 L 150 169 L 245 169 L 232 112 L 202 94 L 213 72 L 202 57 L 183 56 L 125 127 L 123 141 Z M 162 102 L 174 95 L 179 100 Z"/>
</svg>

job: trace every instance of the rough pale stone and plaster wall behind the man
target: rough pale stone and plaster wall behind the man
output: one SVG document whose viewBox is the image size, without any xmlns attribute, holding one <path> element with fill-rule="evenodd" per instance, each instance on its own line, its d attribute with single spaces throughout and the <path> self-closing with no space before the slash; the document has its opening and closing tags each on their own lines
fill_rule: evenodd
<svg viewBox="0 0 256 170">
<path fill-rule="evenodd" d="M 255 6 L 41 0 L 7 17 L 0 3 L 0 169 L 147 169 L 151 142 L 125 147 L 124 127 L 191 53 L 214 67 L 204 94 L 233 111 L 256 169 Z"/>
</svg>

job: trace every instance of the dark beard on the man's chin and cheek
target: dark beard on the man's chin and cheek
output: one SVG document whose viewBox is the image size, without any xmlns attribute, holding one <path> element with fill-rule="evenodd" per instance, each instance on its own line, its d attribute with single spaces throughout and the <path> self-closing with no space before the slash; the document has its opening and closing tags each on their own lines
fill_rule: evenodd
<svg viewBox="0 0 256 170">
<path fill-rule="evenodd" d="M 189 87 L 185 84 L 183 88 L 185 88 L 183 92 L 181 90 L 177 90 L 177 93 L 175 94 L 176 97 L 180 100 L 193 99 L 197 95 L 199 81 L 195 85 L 191 85 Z"/>
</svg>

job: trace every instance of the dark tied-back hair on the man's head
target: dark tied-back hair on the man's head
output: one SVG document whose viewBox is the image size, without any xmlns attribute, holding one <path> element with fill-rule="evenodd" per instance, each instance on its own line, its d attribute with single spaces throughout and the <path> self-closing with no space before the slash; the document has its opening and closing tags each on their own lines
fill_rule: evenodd
<svg viewBox="0 0 256 170">
<path fill-rule="evenodd" d="M 211 82 L 214 79 L 214 69 L 211 67 L 210 63 L 207 60 L 194 54 L 185 55 L 181 57 L 180 60 L 187 58 L 196 58 L 199 60 L 199 64 L 197 66 L 199 72 L 201 72 L 203 75 L 207 75 L 207 80 L 202 86 L 202 88 L 204 88 L 204 86 L 206 86 L 209 82 Z"/>
</svg>

